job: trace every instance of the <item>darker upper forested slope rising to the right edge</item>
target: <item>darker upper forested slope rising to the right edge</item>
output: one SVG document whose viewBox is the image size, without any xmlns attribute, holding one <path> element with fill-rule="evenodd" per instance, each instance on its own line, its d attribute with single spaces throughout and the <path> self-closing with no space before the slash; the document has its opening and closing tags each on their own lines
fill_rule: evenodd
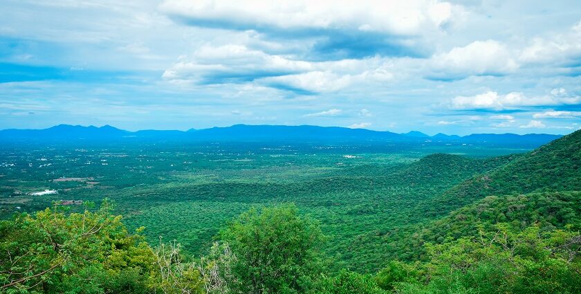
<svg viewBox="0 0 581 294">
<path fill-rule="evenodd" d="M 581 131 L 452 187 L 428 214 L 450 211 L 490 195 L 581 190 Z"/>
</svg>

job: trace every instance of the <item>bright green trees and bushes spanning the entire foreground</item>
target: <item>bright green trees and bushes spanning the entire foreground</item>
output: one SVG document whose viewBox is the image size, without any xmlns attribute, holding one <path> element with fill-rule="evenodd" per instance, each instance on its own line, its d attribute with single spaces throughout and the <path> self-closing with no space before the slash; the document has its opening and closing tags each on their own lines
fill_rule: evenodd
<svg viewBox="0 0 581 294">
<path fill-rule="evenodd" d="M 426 261 L 331 273 L 326 237 L 295 205 L 241 214 L 196 258 L 129 234 L 104 201 L 2 221 L 0 283 L 6 293 L 580 293 L 578 231 L 478 226 L 477 236 L 425 244 Z"/>
</svg>

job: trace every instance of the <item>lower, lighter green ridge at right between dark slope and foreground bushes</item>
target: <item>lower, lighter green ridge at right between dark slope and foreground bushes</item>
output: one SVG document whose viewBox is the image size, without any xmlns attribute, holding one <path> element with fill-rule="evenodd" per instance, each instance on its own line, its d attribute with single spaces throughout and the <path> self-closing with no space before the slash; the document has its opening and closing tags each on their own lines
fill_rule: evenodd
<svg viewBox="0 0 581 294">
<path fill-rule="evenodd" d="M 409 237 L 409 244 L 413 244 L 418 256 L 425 257 L 426 242 L 441 244 L 461 237 L 477 237 L 481 230 L 495 232 L 497 223 L 506 223 L 512 230 L 524 230 L 533 224 L 542 231 L 581 230 L 581 192 L 488 196 L 454 210 L 448 217 L 427 223 Z"/>
</svg>

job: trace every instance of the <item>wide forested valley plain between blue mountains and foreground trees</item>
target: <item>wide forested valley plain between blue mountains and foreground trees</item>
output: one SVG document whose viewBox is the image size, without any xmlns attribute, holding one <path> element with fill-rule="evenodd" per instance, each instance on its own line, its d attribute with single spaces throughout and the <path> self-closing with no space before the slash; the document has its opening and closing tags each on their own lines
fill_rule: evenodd
<svg viewBox="0 0 581 294">
<path fill-rule="evenodd" d="M 416 224 L 448 210 L 416 212 L 470 176 L 516 157 L 484 156 L 517 151 L 524 150 L 374 142 L 0 146 L 0 163 L 8 165 L 0 176 L 0 218 L 42 210 L 50 201 L 107 195 L 129 229 L 147 228 L 142 234 L 150 244 L 160 236 L 176 239 L 184 252 L 198 256 L 228 220 L 251 206 L 294 202 L 331 237 L 322 248 L 335 259 L 331 271 L 371 273 L 387 259 L 413 259 L 401 240 Z M 27 194 L 44 189 L 59 194 Z M 72 205 L 71 211 L 82 208 Z"/>
</svg>

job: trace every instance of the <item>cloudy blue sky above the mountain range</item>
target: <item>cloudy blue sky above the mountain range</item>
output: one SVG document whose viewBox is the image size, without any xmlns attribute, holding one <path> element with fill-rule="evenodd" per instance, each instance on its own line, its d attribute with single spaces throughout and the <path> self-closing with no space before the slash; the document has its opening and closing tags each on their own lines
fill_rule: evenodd
<svg viewBox="0 0 581 294">
<path fill-rule="evenodd" d="M 0 4 L 0 129 L 581 127 L 578 0 Z"/>
</svg>

